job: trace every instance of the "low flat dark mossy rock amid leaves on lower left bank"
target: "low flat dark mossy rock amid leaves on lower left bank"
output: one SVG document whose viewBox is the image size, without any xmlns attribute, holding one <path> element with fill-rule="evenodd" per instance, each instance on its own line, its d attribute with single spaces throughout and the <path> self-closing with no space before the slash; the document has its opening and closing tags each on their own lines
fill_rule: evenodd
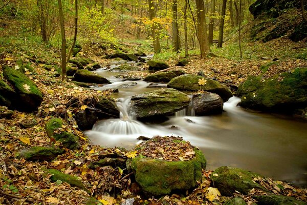
<svg viewBox="0 0 307 205">
<path fill-rule="evenodd" d="M 23 149 L 19 152 L 19 157 L 23 157 L 27 160 L 46 160 L 51 161 L 58 155 L 63 154 L 63 149 L 51 148 L 51 147 L 31 147 Z"/>
</svg>

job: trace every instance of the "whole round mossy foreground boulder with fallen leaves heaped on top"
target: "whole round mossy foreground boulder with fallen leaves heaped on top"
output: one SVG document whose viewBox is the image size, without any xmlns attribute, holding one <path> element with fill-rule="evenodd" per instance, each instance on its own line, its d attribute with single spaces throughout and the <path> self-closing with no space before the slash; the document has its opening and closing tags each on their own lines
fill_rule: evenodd
<svg viewBox="0 0 307 205">
<path fill-rule="evenodd" d="M 155 148 L 159 151 L 153 151 Z M 206 168 L 204 154 L 179 137 L 153 137 L 136 150 L 142 151 L 130 161 L 130 165 L 128 163 L 128 168 L 133 170 L 136 181 L 146 194 L 159 196 L 193 188 L 202 179 L 202 170 Z M 169 159 L 168 154 L 171 155 Z M 185 158 L 187 155 L 188 159 Z"/>
</svg>

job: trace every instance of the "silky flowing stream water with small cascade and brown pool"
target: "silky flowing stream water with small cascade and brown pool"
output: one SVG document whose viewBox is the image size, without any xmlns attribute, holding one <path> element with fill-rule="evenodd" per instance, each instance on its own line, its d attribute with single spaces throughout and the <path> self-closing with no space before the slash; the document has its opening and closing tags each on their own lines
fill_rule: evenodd
<svg viewBox="0 0 307 205">
<path fill-rule="evenodd" d="M 118 73 L 96 71 L 113 83 L 95 88 L 117 88 L 133 81 L 121 81 Z M 224 103 L 224 112 L 213 116 L 191 116 L 183 110 L 161 124 L 144 124 L 129 112 L 131 96 L 159 88 L 146 88 L 148 83 L 120 88 L 114 94 L 121 111 L 120 119 L 98 121 L 86 135 L 93 144 L 104 147 L 134 148 L 139 136 L 182 136 L 199 147 L 206 156 L 207 168 L 233 166 L 260 173 L 297 186 L 307 187 L 307 123 L 286 116 L 248 112 L 237 107 L 239 98 Z M 188 114 L 188 115 L 187 115 Z M 176 126 L 176 128 L 171 128 Z"/>
</svg>

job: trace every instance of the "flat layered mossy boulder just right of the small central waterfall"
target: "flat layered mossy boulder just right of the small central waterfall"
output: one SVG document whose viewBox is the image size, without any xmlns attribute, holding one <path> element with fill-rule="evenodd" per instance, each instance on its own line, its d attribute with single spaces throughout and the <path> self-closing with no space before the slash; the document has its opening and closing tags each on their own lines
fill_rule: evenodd
<svg viewBox="0 0 307 205">
<path fill-rule="evenodd" d="M 188 95 L 172 88 L 149 91 L 131 97 L 131 109 L 141 120 L 174 114 L 188 107 L 189 103 Z"/>
</svg>

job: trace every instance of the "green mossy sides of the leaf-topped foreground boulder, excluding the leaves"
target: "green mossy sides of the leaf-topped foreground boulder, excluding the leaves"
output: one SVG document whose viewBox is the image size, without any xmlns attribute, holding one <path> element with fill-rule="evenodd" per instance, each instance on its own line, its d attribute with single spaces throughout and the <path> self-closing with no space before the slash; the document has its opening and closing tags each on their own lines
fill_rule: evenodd
<svg viewBox="0 0 307 205">
<path fill-rule="evenodd" d="M 188 190 L 197 186 L 202 179 L 202 170 L 206 168 L 204 154 L 194 149 L 195 158 L 188 161 L 166 161 L 142 158 L 131 160 L 131 169 L 136 181 L 146 194 L 159 196 L 176 190 Z"/>
</svg>

